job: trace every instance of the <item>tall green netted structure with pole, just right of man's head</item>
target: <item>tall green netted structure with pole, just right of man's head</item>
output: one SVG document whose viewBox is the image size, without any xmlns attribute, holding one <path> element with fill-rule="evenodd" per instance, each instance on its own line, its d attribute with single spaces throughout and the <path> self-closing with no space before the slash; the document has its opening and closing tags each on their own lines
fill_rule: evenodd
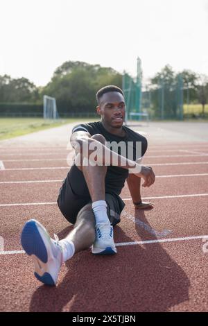
<svg viewBox="0 0 208 326">
<path fill-rule="evenodd" d="M 137 76 L 133 78 L 125 71 L 123 73 L 123 94 L 126 104 L 126 121 L 138 120 L 141 117 L 141 60 L 137 58 Z"/>
</svg>

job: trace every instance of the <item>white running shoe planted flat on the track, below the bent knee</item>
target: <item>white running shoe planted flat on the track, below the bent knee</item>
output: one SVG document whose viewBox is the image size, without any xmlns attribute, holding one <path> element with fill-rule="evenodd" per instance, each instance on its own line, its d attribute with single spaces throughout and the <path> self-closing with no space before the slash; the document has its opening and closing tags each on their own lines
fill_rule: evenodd
<svg viewBox="0 0 208 326">
<path fill-rule="evenodd" d="M 96 224 L 96 240 L 92 246 L 94 255 L 114 255 L 116 246 L 113 239 L 113 227 L 109 223 Z"/>
</svg>

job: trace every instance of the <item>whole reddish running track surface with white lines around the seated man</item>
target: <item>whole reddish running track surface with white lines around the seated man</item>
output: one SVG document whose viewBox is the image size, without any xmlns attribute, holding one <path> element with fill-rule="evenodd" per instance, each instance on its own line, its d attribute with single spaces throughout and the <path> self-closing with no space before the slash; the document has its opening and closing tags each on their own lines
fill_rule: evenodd
<svg viewBox="0 0 208 326">
<path fill-rule="evenodd" d="M 57 286 L 35 279 L 19 237 L 30 218 L 51 237 L 71 230 L 56 199 L 76 124 L 0 142 L 0 311 L 208 311 L 208 123 L 132 127 L 148 139 L 143 163 L 156 180 L 142 197 L 154 209 L 135 210 L 125 185 L 117 255 L 84 250 L 62 265 Z"/>
</svg>

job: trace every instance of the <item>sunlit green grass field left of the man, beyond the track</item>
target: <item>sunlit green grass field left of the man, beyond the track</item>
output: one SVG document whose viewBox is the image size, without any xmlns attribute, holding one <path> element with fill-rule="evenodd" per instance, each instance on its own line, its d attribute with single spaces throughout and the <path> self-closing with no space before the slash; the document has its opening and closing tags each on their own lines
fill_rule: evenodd
<svg viewBox="0 0 208 326">
<path fill-rule="evenodd" d="M 95 118 L 91 118 L 96 121 Z M 0 140 L 26 135 L 31 132 L 62 126 L 66 123 L 90 120 L 89 118 L 60 119 L 58 121 L 42 118 L 0 118 Z"/>
</svg>

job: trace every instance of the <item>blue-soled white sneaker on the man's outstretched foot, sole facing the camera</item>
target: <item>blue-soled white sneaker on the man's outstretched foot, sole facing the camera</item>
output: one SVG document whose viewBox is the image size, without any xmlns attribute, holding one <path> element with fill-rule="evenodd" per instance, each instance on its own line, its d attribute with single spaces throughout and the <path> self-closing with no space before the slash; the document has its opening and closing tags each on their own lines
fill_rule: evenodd
<svg viewBox="0 0 208 326">
<path fill-rule="evenodd" d="M 56 241 L 51 239 L 42 224 L 30 220 L 21 232 L 21 246 L 33 259 L 37 280 L 47 285 L 55 285 L 63 262 L 58 237 Z"/>
</svg>

